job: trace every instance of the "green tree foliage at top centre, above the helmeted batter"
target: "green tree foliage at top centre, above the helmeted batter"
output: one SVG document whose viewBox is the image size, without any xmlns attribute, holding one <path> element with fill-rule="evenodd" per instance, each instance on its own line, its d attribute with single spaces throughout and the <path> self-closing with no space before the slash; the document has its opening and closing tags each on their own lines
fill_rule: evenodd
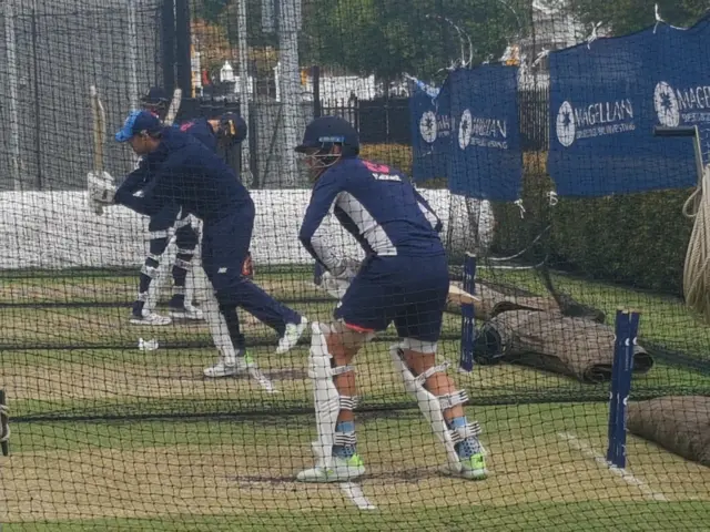
<svg viewBox="0 0 710 532">
<path fill-rule="evenodd" d="M 499 57 L 524 30 L 525 10 L 497 0 L 311 0 L 304 21 L 310 62 L 392 80 L 403 72 L 443 78 L 462 55 L 454 21 L 471 38 L 474 63 Z"/>
</svg>

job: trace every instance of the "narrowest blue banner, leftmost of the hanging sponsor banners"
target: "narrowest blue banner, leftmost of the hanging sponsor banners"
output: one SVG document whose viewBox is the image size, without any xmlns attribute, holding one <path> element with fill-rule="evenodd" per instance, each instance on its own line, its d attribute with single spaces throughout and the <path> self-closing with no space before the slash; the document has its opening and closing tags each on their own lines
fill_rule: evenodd
<svg viewBox="0 0 710 532">
<path fill-rule="evenodd" d="M 415 182 L 448 177 L 450 152 L 449 88 L 437 91 L 412 83 L 412 177 Z"/>
</svg>

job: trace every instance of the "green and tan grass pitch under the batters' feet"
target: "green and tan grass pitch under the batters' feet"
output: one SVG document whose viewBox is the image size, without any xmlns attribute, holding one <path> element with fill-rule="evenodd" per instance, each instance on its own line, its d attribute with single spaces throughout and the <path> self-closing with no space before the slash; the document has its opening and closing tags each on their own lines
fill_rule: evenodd
<svg viewBox="0 0 710 532">
<path fill-rule="evenodd" d="M 528 274 L 506 280 L 539 288 Z M 307 272 L 257 272 L 257 282 L 281 298 L 308 298 L 293 306 L 311 319 L 332 311 L 333 301 L 316 300 L 323 296 Z M 607 313 L 641 308 L 645 338 L 700 359 L 707 352 L 708 330 L 677 301 L 558 282 Z M 707 530 L 710 522 L 708 468 L 629 437 L 627 470 L 610 470 L 602 460 L 608 385 L 524 367 L 450 370 L 471 396 L 467 415 L 484 428 L 491 475 L 468 482 L 440 474 L 446 458 L 410 408 L 388 342 L 369 345 L 356 360 L 367 467 L 361 487 L 376 507 L 358 510 L 338 484 L 293 481 L 312 466 L 307 338 L 277 357 L 273 331 L 247 325 L 262 340 L 253 352 L 277 395 L 246 378 L 204 380 L 215 357 L 204 326 L 130 326 L 134 285 L 133 277 L 90 273 L 3 279 L 0 341 L 13 348 L 2 351 L 0 383 L 21 418 L 12 424 L 12 456 L 0 458 L 3 531 L 633 531 Z M 87 306 L 97 300 L 104 306 Z M 459 327 L 448 316 L 445 334 L 455 338 Z M 140 351 L 139 336 L 162 347 Z M 455 339 L 442 342 L 453 362 L 458 349 Z M 663 362 L 633 382 L 635 393 L 687 388 L 710 390 L 710 378 Z M 120 419 L 126 416 L 133 419 Z"/>
</svg>

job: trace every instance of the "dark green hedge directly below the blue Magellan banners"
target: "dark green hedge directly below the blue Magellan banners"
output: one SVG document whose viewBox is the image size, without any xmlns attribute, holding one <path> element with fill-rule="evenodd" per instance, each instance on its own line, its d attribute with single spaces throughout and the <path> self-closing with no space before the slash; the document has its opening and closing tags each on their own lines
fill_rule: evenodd
<svg viewBox="0 0 710 532">
<path fill-rule="evenodd" d="M 686 250 L 692 222 L 682 215 L 691 191 L 660 191 L 595 198 L 561 198 L 550 207 L 552 190 L 544 168 L 528 166 L 524 184 L 526 215 L 496 205 L 494 247 L 508 254 L 526 248 L 548 224 L 549 239 L 530 260 L 546 253 L 555 267 L 638 288 L 682 294 Z"/>
</svg>

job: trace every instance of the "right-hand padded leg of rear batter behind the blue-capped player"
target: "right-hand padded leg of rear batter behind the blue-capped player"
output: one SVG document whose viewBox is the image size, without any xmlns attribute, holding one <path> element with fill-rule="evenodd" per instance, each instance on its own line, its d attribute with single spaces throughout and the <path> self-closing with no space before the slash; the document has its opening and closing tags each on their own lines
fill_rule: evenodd
<svg viewBox="0 0 710 532">
<path fill-rule="evenodd" d="M 197 246 L 197 231 L 190 223 L 190 216 L 175 224 L 175 245 L 173 262 L 173 296 L 170 299 L 170 316 L 174 319 L 203 319 L 203 313 L 192 305 L 187 293 L 187 274 L 193 267 L 193 257 Z"/>
</svg>

